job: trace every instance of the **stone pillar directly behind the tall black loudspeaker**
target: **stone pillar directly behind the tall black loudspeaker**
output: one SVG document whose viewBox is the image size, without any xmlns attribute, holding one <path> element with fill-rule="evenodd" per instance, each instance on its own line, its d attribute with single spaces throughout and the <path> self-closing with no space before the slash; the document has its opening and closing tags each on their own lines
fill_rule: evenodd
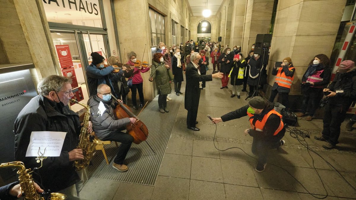
<svg viewBox="0 0 356 200">
<path fill-rule="evenodd" d="M 247 56 L 257 34 L 269 33 L 274 0 L 247 0 L 242 53 Z"/>
</svg>

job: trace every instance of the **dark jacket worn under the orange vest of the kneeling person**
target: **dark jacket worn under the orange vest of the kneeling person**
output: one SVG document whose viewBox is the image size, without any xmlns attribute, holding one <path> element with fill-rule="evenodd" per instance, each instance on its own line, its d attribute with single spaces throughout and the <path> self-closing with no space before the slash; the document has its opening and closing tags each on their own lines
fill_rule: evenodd
<svg viewBox="0 0 356 200">
<path fill-rule="evenodd" d="M 241 107 L 240 109 L 237 109 L 235 111 L 229 112 L 223 116 L 221 116 L 221 119 L 223 122 L 229 121 L 229 120 L 234 120 L 234 119 L 239 119 L 241 117 L 247 116 L 247 109 L 248 105 Z M 257 115 L 253 115 L 253 125 L 256 123 L 257 120 L 262 121 L 263 117 L 271 110 L 274 109 L 273 103 L 268 102 L 267 106 L 265 109 L 263 109 L 262 113 Z M 250 123 L 248 121 L 248 123 Z M 279 125 L 281 123 L 281 118 L 276 115 L 276 114 L 271 114 L 269 115 L 266 125 L 263 127 L 262 131 L 257 131 L 250 129 L 250 136 L 256 137 L 256 138 L 271 138 L 271 137 L 281 137 L 282 135 L 284 136 L 284 133 L 286 132 L 286 128 L 283 127 L 281 131 L 277 133 L 277 135 L 273 136 L 274 132 L 278 129 Z"/>
</svg>

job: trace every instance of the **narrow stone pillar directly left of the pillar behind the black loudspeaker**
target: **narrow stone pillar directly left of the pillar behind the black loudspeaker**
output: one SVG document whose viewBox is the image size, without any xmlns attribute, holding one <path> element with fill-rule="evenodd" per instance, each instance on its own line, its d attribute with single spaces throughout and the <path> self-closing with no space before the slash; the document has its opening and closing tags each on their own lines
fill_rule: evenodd
<svg viewBox="0 0 356 200">
<path fill-rule="evenodd" d="M 232 12 L 231 21 L 230 47 L 233 47 L 234 45 L 242 46 L 242 32 L 244 31 L 245 10 L 246 0 L 234 1 L 234 11 Z"/>
</svg>

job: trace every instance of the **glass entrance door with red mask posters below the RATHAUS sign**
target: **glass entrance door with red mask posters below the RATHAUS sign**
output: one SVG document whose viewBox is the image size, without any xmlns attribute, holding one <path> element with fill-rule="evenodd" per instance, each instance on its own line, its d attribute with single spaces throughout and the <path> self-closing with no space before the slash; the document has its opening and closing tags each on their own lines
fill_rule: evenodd
<svg viewBox="0 0 356 200">
<path fill-rule="evenodd" d="M 102 56 L 107 54 L 105 35 L 90 34 L 88 31 L 76 30 L 53 30 L 51 35 L 62 74 L 73 80 L 73 98 L 81 103 L 87 104 L 89 90 L 87 88 L 85 67 L 91 64 L 91 52 L 98 52 Z M 106 59 L 105 63 L 107 64 Z M 74 112 L 84 109 L 84 107 L 79 104 L 71 104 L 70 106 Z"/>
</svg>

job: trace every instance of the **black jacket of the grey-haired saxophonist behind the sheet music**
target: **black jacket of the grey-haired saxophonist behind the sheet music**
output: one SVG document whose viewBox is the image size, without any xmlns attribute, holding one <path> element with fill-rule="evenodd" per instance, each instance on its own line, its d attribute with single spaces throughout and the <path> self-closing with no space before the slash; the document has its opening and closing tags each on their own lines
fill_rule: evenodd
<svg viewBox="0 0 356 200">
<path fill-rule="evenodd" d="M 60 156 L 47 157 L 38 171 L 42 177 L 42 189 L 57 192 L 68 188 L 80 180 L 73 167 L 74 162 L 69 161 L 68 154 L 77 148 L 80 129 L 79 116 L 68 106 L 37 95 L 28 102 L 15 120 L 15 160 L 22 161 L 27 169 L 40 167 L 35 157 L 26 157 L 31 132 L 66 132 Z M 33 179 L 41 182 L 36 174 L 33 174 Z"/>
</svg>

